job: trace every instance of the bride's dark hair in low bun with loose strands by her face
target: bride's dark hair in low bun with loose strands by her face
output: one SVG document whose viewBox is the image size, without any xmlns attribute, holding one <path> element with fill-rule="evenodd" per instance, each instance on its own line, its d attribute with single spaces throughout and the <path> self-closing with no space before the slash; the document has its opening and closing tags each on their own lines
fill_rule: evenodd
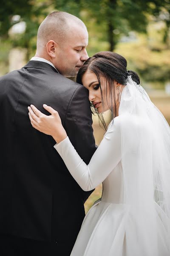
<svg viewBox="0 0 170 256">
<path fill-rule="evenodd" d="M 102 94 L 102 88 L 100 85 L 100 77 L 104 77 L 106 81 L 106 94 L 107 94 L 107 88 L 109 87 L 110 91 L 110 102 L 111 106 L 109 106 L 111 110 L 111 118 L 114 118 L 114 112 L 113 112 L 113 102 L 115 106 L 116 111 L 116 101 L 115 101 L 115 87 L 113 84 L 113 81 L 116 80 L 119 84 L 126 85 L 127 83 L 127 76 L 131 76 L 133 81 L 135 81 L 137 84 L 140 84 L 139 76 L 136 72 L 132 70 L 127 71 L 127 61 L 124 57 L 121 55 L 115 53 L 115 52 L 97 52 L 93 57 L 88 58 L 87 61 L 85 61 L 84 65 L 79 69 L 79 72 L 77 74 L 77 83 L 82 84 L 82 76 L 84 73 L 89 70 L 97 76 L 97 79 L 99 81 L 99 87 L 101 90 L 101 96 L 102 96 L 102 102 L 103 102 L 103 94 Z M 107 99 L 108 102 L 108 99 Z M 91 110 L 92 113 L 97 113 L 99 116 L 99 121 L 102 122 L 104 125 L 105 130 L 106 125 L 105 121 L 103 119 L 102 114 L 99 114 L 97 109 L 94 108 L 92 102 L 91 102 Z M 116 113 L 115 113 L 116 116 Z"/>
</svg>

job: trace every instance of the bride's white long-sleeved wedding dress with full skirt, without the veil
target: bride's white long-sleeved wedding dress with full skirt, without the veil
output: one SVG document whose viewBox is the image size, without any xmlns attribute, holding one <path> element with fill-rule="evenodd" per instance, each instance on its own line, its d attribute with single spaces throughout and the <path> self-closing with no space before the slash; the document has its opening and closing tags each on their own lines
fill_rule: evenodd
<svg viewBox="0 0 170 256">
<path fill-rule="evenodd" d="M 145 119 L 133 117 L 123 113 L 114 118 L 88 166 L 68 137 L 54 146 L 82 189 L 88 191 L 103 182 L 102 198 L 85 216 L 71 256 L 170 256 L 170 218 L 160 201 L 150 196 L 153 174 L 148 172 L 152 166 L 147 169 L 148 152 L 145 156 L 142 151 L 155 143 L 155 135 Z M 123 134 L 124 128 L 127 134 Z M 122 134 L 129 136 L 125 140 Z M 144 136 L 142 145 L 137 140 L 139 134 Z M 136 140 L 130 141 L 135 136 Z M 148 144 L 150 138 L 152 144 Z M 152 157 L 155 163 L 157 156 Z M 140 169 L 143 162 L 142 176 L 136 166 Z"/>
</svg>

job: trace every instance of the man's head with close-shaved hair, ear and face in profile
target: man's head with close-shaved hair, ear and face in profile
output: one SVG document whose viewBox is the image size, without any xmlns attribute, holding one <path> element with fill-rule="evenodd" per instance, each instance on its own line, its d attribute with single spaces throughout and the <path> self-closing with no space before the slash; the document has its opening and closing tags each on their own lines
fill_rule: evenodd
<svg viewBox="0 0 170 256">
<path fill-rule="evenodd" d="M 88 31 L 79 18 L 67 12 L 52 12 L 37 34 L 35 57 L 50 61 L 63 76 L 76 76 L 89 58 Z"/>
</svg>

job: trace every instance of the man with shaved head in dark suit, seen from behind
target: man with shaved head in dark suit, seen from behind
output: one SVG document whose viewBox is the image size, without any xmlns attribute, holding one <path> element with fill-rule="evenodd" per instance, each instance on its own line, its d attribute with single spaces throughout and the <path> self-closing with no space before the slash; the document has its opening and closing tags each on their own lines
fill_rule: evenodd
<svg viewBox="0 0 170 256">
<path fill-rule="evenodd" d="M 88 91 L 66 77 L 88 59 L 85 24 L 66 12 L 41 23 L 35 57 L 0 78 L 0 256 L 69 256 L 85 216 L 84 192 L 32 128 L 28 105 L 56 109 L 85 163 L 95 151 Z M 48 113 L 49 114 L 49 113 Z"/>
</svg>

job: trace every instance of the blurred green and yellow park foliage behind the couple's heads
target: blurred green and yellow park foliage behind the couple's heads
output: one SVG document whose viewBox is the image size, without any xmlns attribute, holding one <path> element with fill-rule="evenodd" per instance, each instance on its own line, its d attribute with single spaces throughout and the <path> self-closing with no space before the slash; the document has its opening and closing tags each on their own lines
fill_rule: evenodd
<svg viewBox="0 0 170 256">
<path fill-rule="evenodd" d="M 170 80 L 170 0 L 2 0 L 0 8 L 0 67 L 8 67 L 13 47 L 35 53 L 37 29 L 50 12 L 80 17 L 89 32 L 88 54 L 115 50 L 127 58 L 128 69 L 145 81 Z M 12 33 L 24 22 L 23 33 Z"/>
</svg>

